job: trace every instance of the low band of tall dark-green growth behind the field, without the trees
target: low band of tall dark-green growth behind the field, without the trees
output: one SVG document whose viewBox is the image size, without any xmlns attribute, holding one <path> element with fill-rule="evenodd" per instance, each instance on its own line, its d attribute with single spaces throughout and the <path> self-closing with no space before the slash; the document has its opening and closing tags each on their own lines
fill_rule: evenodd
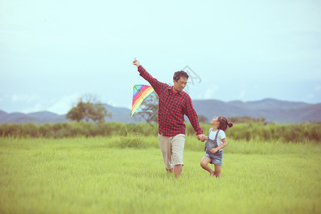
<svg viewBox="0 0 321 214">
<path fill-rule="evenodd" d="M 205 135 L 208 135 L 210 124 L 201 123 Z M 143 136 L 157 136 L 156 123 L 11 123 L 0 124 L 2 137 L 14 138 L 69 138 L 77 136 L 119 136 L 121 132 L 139 128 Z M 226 131 L 228 138 L 245 141 L 282 141 L 282 142 L 321 142 L 321 123 L 276 124 L 270 123 L 236 123 L 233 128 Z M 137 132 L 137 131 L 135 131 Z M 186 136 L 195 136 L 195 131 L 190 123 L 186 123 Z"/>
</svg>

